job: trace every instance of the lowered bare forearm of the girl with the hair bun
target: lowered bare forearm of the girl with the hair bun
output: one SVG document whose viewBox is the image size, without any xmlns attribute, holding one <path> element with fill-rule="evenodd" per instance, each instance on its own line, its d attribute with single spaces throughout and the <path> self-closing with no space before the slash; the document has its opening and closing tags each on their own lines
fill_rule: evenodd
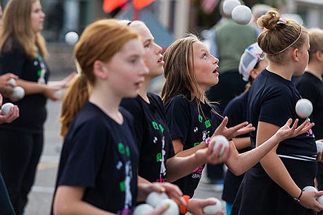
<svg viewBox="0 0 323 215">
<path fill-rule="evenodd" d="M 260 161 L 262 167 L 277 185 L 280 185 L 288 194 L 297 198 L 300 195 L 300 188 L 297 187 L 293 178 L 286 170 L 284 163 L 275 152 L 269 152 L 262 160 Z"/>
</svg>

